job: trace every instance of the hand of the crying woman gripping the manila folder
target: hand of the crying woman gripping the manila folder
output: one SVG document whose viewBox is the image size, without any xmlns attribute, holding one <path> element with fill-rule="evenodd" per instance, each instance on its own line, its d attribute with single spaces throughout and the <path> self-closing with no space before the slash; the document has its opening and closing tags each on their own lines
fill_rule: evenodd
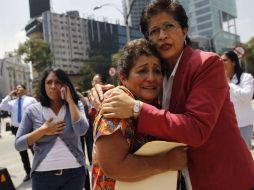
<svg viewBox="0 0 254 190">
<path fill-rule="evenodd" d="M 181 170 L 187 165 L 187 148 L 184 146 L 170 150 L 165 156 L 170 170 Z"/>
</svg>

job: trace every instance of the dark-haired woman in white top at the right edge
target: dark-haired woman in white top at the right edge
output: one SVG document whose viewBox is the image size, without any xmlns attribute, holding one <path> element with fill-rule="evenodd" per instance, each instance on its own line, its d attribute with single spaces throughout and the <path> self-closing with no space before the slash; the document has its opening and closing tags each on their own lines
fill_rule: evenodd
<svg viewBox="0 0 254 190">
<path fill-rule="evenodd" d="M 225 64 L 230 99 L 234 104 L 238 126 L 244 141 L 250 148 L 254 123 L 254 112 L 251 106 L 254 80 L 251 74 L 243 72 L 235 52 L 227 51 L 221 58 Z"/>
</svg>

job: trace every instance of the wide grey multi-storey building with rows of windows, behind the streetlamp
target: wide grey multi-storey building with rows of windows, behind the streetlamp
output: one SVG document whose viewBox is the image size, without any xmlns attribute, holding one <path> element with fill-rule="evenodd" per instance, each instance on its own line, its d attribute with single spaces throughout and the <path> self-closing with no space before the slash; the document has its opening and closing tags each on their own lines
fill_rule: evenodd
<svg viewBox="0 0 254 190">
<path fill-rule="evenodd" d="M 86 60 L 93 55 L 111 59 L 126 43 L 126 27 L 108 22 L 81 18 L 78 11 L 42 14 L 43 39 L 54 55 L 53 65 L 69 74 L 78 74 Z M 131 28 L 131 38 L 140 38 Z"/>
</svg>

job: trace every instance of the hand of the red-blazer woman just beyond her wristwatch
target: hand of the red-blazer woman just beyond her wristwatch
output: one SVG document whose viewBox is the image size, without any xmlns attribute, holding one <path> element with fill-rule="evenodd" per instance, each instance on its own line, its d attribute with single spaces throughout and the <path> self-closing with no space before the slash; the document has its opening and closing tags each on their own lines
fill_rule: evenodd
<svg viewBox="0 0 254 190">
<path fill-rule="evenodd" d="M 133 117 L 134 99 L 121 90 L 113 90 L 103 101 L 101 112 L 105 118 L 126 119 Z"/>
</svg>

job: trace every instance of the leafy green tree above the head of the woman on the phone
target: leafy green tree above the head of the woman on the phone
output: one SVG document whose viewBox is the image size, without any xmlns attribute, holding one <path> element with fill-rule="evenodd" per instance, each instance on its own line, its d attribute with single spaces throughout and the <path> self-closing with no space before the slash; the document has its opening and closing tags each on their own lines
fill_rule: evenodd
<svg viewBox="0 0 254 190">
<path fill-rule="evenodd" d="M 53 61 L 53 54 L 49 45 L 42 39 L 28 39 L 23 44 L 19 44 L 15 52 L 24 58 L 24 62 L 31 62 L 38 73 L 51 66 Z"/>
</svg>

